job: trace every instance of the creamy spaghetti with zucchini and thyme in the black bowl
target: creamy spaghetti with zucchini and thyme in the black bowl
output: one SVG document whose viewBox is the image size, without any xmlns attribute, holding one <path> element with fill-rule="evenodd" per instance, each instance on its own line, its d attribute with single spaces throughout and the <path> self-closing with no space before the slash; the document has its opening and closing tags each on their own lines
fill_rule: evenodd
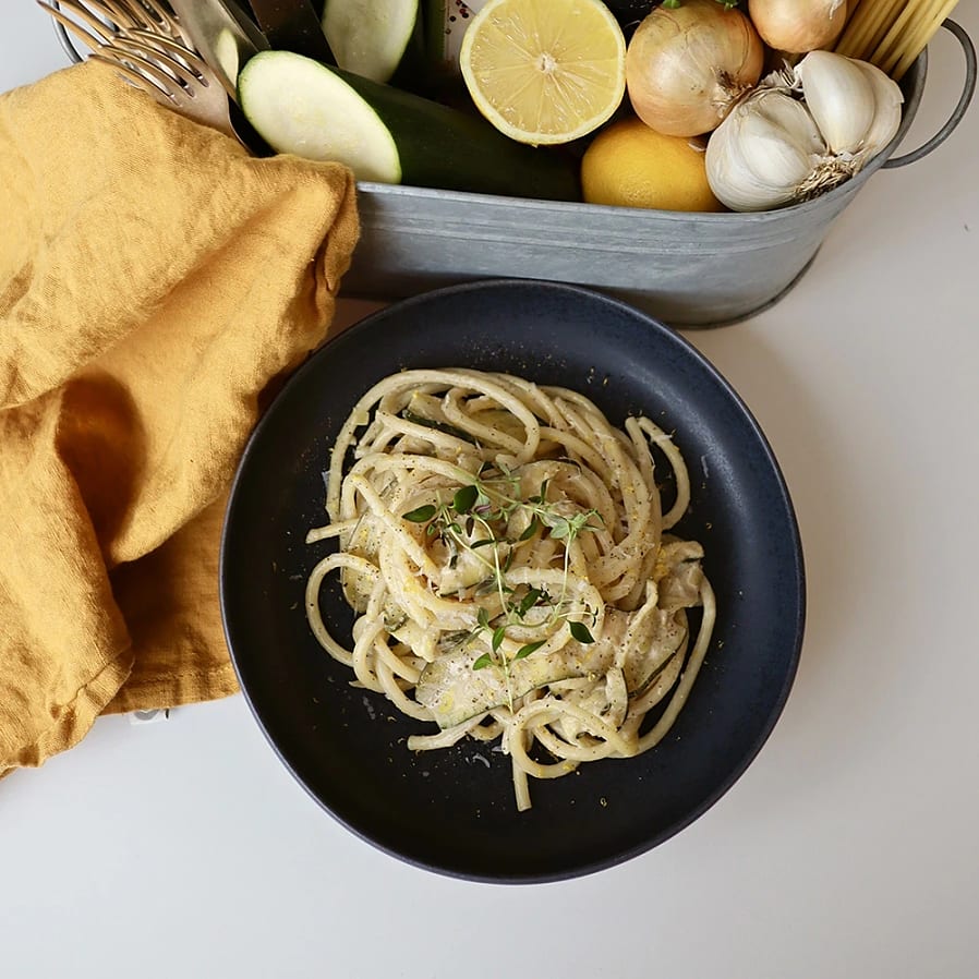
<svg viewBox="0 0 979 979">
<path fill-rule="evenodd" d="M 648 418 L 615 428 L 580 394 L 506 374 L 391 375 L 331 451 L 328 522 L 306 540 L 338 547 L 307 580 L 310 627 L 354 682 L 438 725 L 409 748 L 499 739 L 527 809 L 529 776 L 648 751 L 686 703 L 715 618 L 700 544 L 669 533 L 689 500 Z M 331 572 L 352 649 L 321 614 Z"/>
</svg>

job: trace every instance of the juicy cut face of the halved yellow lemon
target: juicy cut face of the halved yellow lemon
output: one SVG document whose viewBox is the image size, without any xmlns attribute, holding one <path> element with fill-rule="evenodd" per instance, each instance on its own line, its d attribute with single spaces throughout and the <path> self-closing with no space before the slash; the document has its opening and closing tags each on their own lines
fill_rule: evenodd
<svg viewBox="0 0 979 979">
<path fill-rule="evenodd" d="M 476 108 L 520 143 L 577 140 L 626 90 L 626 41 L 600 0 L 490 0 L 459 63 Z"/>
</svg>

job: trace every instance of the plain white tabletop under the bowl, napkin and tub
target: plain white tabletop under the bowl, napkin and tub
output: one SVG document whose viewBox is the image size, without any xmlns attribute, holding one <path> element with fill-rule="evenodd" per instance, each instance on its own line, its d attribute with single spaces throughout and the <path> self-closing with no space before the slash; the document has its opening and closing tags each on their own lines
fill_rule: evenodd
<svg viewBox="0 0 979 979">
<path fill-rule="evenodd" d="M 979 3 L 956 19 L 979 38 Z M 0 90 L 62 64 L 8 0 Z M 908 147 L 962 76 L 939 37 Z M 0 782 L 0 975 L 979 975 L 977 177 L 979 105 L 874 176 L 781 304 L 687 334 L 769 435 L 809 576 L 788 705 L 705 815 L 583 880 L 472 884 L 349 835 L 240 696 L 104 718 Z"/>
</svg>

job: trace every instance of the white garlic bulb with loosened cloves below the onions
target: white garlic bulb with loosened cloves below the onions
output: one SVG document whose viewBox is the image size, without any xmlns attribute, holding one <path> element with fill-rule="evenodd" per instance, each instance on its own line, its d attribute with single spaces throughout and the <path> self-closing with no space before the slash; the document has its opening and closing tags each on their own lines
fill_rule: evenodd
<svg viewBox="0 0 979 979">
<path fill-rule="evenodd" d="M 714 196 L 732 210 L 807 201 L 861 170 L 901 125 L 903 96 L 880 69 L 812 51 L 741 99 L 711 134 Z"/>
</svg>

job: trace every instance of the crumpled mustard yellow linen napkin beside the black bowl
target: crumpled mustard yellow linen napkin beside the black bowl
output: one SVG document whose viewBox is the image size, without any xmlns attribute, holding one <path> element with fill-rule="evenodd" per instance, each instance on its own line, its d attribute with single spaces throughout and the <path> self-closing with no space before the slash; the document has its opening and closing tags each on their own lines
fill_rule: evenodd
<svg viewBox="0 0 979 979">
<path fill-rule="evenodd" d="M 106 65 L 0 96 L 0 774 L 237 689 L 223 501 L 355 205 L 346 168 L 252 158 Z"/>
</svg>

